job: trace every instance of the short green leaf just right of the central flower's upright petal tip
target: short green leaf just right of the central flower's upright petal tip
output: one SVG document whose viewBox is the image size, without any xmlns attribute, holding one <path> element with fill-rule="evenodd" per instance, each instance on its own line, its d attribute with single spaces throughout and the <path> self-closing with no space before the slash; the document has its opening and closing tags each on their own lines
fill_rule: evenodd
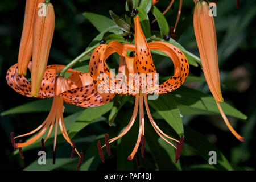
<svg viewBox="0 0 256 182">
<path fill-rule="evenodd" d="M 150 22 L 147 16 L 147 13 L 141 7 L 137 7 L 139 22 L 141 23 L 142 31 L 146 38 L 150 38 Z"/>
</svg>

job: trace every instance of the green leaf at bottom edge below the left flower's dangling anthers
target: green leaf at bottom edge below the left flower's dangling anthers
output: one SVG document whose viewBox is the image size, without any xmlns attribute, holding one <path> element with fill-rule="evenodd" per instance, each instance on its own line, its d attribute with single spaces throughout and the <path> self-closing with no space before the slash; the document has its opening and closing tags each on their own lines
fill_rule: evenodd
<svg viewBox="0 0 256 182">
<path fill-rule="evenodd" d="M 70 159 L 70 158 L 57 158 L 56 164 L 52 164 L 52 159 L 46 159 L 46 165 L 39 165 L 38 160 L 35 160 L 26 168 L 24 171 L 52 171 L 57 169 L 61 166 L 68 165 L 68 163 L 73 162 L 73 160 L 78 160 L 77 158 Z"/>
</svg>

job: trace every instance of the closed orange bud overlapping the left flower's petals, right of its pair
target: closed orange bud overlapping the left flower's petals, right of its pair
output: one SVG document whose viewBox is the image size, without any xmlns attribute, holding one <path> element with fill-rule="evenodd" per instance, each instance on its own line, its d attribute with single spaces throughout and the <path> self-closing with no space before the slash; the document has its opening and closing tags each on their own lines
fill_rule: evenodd
<svg viewBox="0 0 256 182">
<path fill-rule="evenodd" d="M 55 27 L 54 9 L 49 1 L 36 13 L 33 31 L 31 96 L 37 96 L 49 57 Z"/>
</svg>

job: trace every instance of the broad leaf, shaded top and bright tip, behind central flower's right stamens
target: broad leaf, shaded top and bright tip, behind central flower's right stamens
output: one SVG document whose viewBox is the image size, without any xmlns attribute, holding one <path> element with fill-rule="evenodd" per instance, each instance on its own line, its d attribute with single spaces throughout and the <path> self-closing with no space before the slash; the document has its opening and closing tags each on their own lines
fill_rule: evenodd
<svg viewBox="0 0 256 182">
<path fill-rule="evenodd" d="M 177 134 L 184 134 L 180 112 L 172 94 L 159 95 L 156 100 L 148 100 L 148 104 L 169 123 Z"/>
</svg>

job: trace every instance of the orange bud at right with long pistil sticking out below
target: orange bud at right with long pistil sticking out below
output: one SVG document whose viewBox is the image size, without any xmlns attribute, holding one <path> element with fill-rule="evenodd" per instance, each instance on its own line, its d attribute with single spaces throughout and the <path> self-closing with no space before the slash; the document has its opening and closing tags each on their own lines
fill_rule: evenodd
<svg viewBox="0 0 256 182">
<path fill-rule="evenodd" d="M 210 16 L 210 13 L 207 2 L 199 1 L 196 3 L 193 24 L 204 76 L 226 126 L 238 140 L 243 142 L 244 137 L 241 137 L 233 129 L 220 105 L 220 102 L 224 101 L 224 99 L 221 94 L 220 73 L 218 70 L 216 30 L 213 16 Z"/>
</svg>

